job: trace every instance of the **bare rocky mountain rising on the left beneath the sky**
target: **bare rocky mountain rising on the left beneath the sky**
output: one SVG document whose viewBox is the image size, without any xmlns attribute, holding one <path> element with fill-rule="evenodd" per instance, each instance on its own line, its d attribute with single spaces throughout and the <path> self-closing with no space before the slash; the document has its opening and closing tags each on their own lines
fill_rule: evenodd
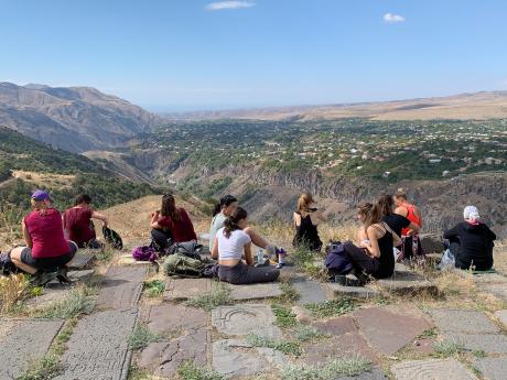
<svg viewBox="0 0 507 380">
<path fill-rule="evenodd" d="M 161 119 L 91 87 L 0 83 L 0 126 L 71 152 L 108 149 Z"/>
</svg>

